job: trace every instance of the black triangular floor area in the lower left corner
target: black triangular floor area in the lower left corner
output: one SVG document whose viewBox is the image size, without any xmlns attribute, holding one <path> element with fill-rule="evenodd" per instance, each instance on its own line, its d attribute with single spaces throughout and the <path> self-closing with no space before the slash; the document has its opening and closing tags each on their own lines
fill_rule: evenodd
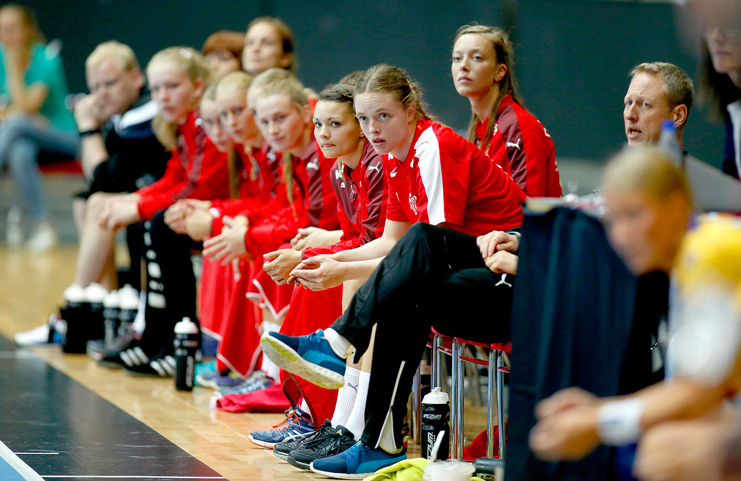
<svg viewBox="0 0 741 481">
<path fill-rule="evenodd" d="M 66 481 L 93 479 L 90 476 L 220 476 L 152 428 L 2 336 L 0 351 L 5 353 L 0 359 L 0 440 L 17 453 L 59 453 L 19 455 L 41 477 L 84 477 L 49 478 Z"/>
</svg>

